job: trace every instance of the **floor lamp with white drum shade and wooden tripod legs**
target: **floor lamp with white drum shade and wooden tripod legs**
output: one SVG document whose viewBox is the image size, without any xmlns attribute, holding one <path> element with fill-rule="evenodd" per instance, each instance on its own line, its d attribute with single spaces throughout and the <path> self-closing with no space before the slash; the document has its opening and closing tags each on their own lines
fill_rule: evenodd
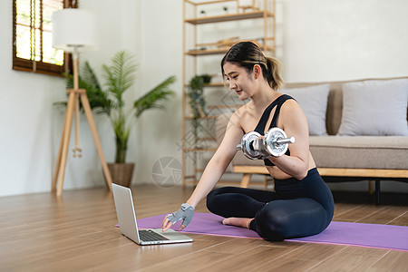
<svg viewBox="0 0 408 272">
<path fill-rule="evenodd" d="M 83 110 L 91 128 L 93 141 L 95 142 L 99 158 L 102 162 L 102 170 L 108 188 L 112 190 L 111 173 L 103 156 L 101 141 L 96 130 L 92 116 L 91 106 L 86 95 L 86 90 L 79 89 L 78 81 L 78 55 L 80 52 L 92 50 L 96 47 L 96 20 L 95 15 L 86 10 L 77 8 L 67 8 L 53 13 L 53 47 L 61 49 L 65 53 L 73 53 L 73 89 L 68 89 L 68 102 L 66 106 L 65 118 L 63 121 L 63 133 L 61 135 L 60 148 L 53 174 L 52 190 L 56 190 L 57 196 L 63 194 L 63 177 L 65 174 L 66 158 L 68 155 L 68 145 L 70 142 L 71 130 L 73 126 L 73 114 L 75 114 L 75 139 L 78 149 L 78 119 L 79 100 L 83 104 Z M 74 151 L 74 152 L 75 152 Z M 58 188 L 57 188 L 58 184 Z"/>
</svg>

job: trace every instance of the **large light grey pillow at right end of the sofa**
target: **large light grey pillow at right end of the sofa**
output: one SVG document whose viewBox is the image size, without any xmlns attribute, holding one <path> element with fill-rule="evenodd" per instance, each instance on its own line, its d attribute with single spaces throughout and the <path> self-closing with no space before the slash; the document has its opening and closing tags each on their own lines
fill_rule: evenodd
<svg viewBox="0 0 408 272">
<path fill-rule="evenodd" d="M 408 136 L 408 79 L 345 83 L 339 135 Z"/>
</svg>

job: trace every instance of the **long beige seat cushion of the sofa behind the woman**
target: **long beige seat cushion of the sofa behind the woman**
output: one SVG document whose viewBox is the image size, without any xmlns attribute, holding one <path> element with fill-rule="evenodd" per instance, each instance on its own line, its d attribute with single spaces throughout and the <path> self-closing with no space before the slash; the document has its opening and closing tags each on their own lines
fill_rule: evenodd
<svg viewBox="0 0 408 272">
<path fill-rule="evenodd" d="M 408 170 L 403 136 L 311 136 L 317 167 Z"/>
</svg>

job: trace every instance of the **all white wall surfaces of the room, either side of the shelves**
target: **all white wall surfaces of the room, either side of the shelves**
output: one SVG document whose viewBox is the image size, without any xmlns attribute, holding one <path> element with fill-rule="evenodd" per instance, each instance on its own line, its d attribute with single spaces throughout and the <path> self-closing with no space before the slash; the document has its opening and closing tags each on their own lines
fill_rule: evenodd
<svg viewBox="0 0 408 272">
<path fill-rule="evenodd" d="M 0 1 L 0 196 L 51 188 L 63 121 L 63 112 L 52 103 L 65 97 L 63 79 L 11 69 L 11 2 Z M 128 160 L 137 161 L 133 184 L 151 183 L 156 160 L 164 156 L 181 160 L 182 1 L 82 0 L 81 4 L 96 12 L 101 25 L 99 50 L 83 53 L 82 60 L 89 60 L 98 73 L 101 64 L 121 49 L 139 60 L 137 81 L 127 94 L 130 102 L 169 75 L 178 78 L 174 84 L 178 93 L 167 110 L 146 112 L 131 134 Z M 404 15 L 408 2 L 277 0 L 277 6 L 277 56 L 287 82 L 408 74 L 408 17 Z M 206 41 L 219 39 L 216 34 L 206 35 Z M 112 161 L 110 124 L 102 116 L 96 122 L 105 157 Z M 83 116 L 80 132 L 84 157 L 69 156 L 64 189 L 104 186 Z M 395 183 L 390 189 L 404 185 Z"/>
</svg>

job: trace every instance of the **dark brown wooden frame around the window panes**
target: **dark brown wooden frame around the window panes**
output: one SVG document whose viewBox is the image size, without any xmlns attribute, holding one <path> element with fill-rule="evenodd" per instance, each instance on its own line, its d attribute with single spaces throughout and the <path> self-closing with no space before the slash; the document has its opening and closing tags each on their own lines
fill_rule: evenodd
<svg viewBox="0 0 408 272">
<path fill-rule="evenodd" d="M 40 0 L 43 4 L 44 0 Z M 63 8 L 77 8 L 77 0 L 61 0 L 63 3 Z M 13 0 L 13 70 L 25 71 L 31 73 L 44 73 L 49 75 L 63 76 L 63 73 L 72 73 L 73 71 L 73 59 L 71 53 L 63 53 L 63 65 L 57 65 L 52 63 L 43 63 L 42 61 L 37 62 L 34 60 L 27 60 L 24 58 L 17 57 L 17 44 L 16 44 L 16 34 L 17 34 L 17 0 Z M 43 7 L 41 7 L 41 13 L 43 13 Z M 43 32 L 41 31 L 41 36 Z M 43 44 L 43 41 L 41 41 Z"/>
</svg>

